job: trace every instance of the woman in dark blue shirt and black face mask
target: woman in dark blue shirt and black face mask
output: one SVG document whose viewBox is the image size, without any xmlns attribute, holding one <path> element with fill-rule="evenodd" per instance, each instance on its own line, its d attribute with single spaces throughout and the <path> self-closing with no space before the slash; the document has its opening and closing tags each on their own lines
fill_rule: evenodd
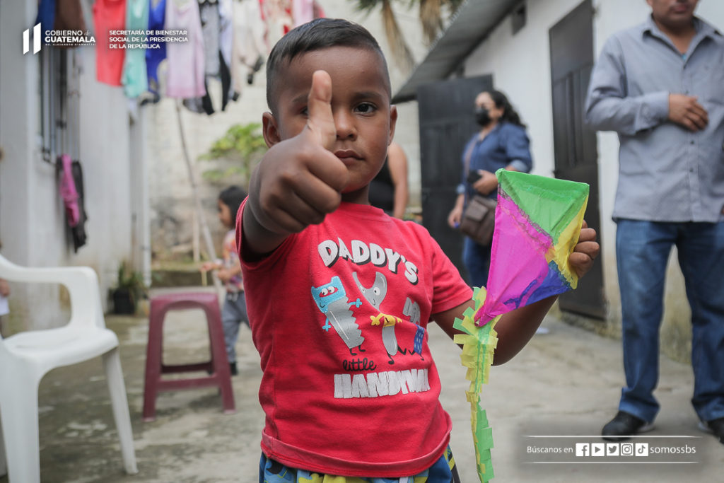
<svg viewBox="0 0 724 483">
<path fill-rule="evenodd" d="M 500 91 L 484 91 L 475 98 L 475 119 L 479 133 L 473 135 L 463 150 L 463 172 L 458 185 L 455 207 L 447 223 L 457 228 L 466 200 L 479 193 L 497 197 L 497 169 L 529 172 L 533 166 L 526 128 L 508 98 Z M 487 285 L 490 246 L 479 245 L 466 237 L 463 263 L 474 287 Z"/>
</svg>

